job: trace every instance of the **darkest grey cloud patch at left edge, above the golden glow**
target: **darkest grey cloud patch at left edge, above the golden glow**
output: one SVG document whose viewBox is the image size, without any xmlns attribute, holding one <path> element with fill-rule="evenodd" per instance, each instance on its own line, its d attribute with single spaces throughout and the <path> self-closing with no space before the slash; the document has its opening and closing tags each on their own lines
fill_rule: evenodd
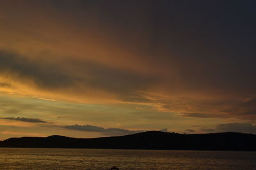
<svg viewBox="0 0 256 170">
<path fill-rule="evenodd" d="M 0 73 L 19 81 L 33 80 L 41 88 L 67 87 L 74 83 L 59 66 L 51 62 L 28 59 L 18 53 L 0 50 Z"/>
</svg>

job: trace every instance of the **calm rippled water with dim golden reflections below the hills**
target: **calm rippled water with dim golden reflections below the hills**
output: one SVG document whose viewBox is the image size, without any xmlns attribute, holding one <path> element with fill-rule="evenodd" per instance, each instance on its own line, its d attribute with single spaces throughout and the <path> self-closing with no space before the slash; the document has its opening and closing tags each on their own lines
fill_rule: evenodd
<svg viewBox="0 0 256 170">
<path fill-rule="evenodd" d="M 256 152 L 0 148 L 0 169 L 256 169 Z"/>
</svg>

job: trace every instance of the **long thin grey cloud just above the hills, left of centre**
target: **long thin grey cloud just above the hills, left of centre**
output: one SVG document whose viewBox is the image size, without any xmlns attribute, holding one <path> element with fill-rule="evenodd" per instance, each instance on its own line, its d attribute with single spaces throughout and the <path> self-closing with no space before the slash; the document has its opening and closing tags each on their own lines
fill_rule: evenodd
<svg viewBox="0 0 256 170">
<path fill-rule="evenodd" d="M 89 131 L 89 132 L 101 132 L 102 134 L 108 135 L 126 135 L 126 134 L 135 134 L 144 131 L 130 131 L 127 129 L 120 129 L 120 128 L 103 128 L 97 127 L 93 125 L 65 125 L 63 128 L 72 129 L 76 131 Z"/>
</svg>

